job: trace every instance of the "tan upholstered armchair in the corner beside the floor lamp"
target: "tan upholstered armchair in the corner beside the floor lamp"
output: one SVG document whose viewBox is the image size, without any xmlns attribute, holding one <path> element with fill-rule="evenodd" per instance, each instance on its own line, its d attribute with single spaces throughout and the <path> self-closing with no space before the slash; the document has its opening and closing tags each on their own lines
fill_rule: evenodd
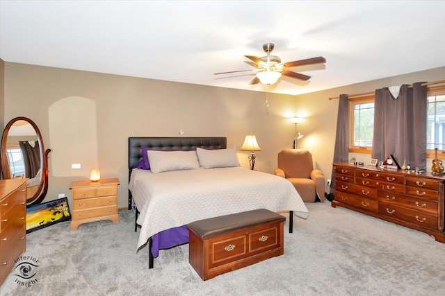
<svg viewBox="0 0 445 296">
<path fill-rule="evenodd" d="M 325 201 L 325 177 L 314 169 L 312 154 L 304 149 L 284 149 L 278 153 L 275 175 L 289 180 L 297 189 L 303 202 L 315 202 L 316 194 Z"/>
</svg>

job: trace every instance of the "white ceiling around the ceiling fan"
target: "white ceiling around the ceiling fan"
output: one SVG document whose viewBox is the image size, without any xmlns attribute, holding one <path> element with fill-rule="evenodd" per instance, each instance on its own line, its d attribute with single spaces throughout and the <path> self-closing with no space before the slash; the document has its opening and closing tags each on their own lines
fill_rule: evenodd
<svg viewBox="0 0 445 296">
<path fill-rule="evenodd" d="M 244 55 L 275 43 L 307 82 L 249 85 Z M 445 1 L 0 0 L 6 62 L 305 94 L 445 66 Z"/>
</svg>

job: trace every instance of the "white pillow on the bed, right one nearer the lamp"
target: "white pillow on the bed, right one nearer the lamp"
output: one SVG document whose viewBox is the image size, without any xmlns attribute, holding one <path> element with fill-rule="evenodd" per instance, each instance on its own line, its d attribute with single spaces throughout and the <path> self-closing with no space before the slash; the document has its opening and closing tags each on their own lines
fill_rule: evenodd
<svg viewBox="0 0 445 296">
<path fill-rule="evenodd" d="M 241 166 L 235 148 L 207 150 L 196 148 L 197 159 L 202 168 L 229 168 Z"/>
</svg>

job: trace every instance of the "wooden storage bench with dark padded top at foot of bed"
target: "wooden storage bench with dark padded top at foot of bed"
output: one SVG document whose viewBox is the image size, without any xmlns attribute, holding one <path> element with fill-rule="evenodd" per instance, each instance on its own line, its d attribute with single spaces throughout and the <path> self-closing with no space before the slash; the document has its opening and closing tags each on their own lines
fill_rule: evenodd
<svg viewBox="0 0 445 296">
<path fill-rule="evenodd" d="M 205 281 L 284 254 L 284 216 L 267 209 L 189 223 L 188 261 Z"/>
</svg>

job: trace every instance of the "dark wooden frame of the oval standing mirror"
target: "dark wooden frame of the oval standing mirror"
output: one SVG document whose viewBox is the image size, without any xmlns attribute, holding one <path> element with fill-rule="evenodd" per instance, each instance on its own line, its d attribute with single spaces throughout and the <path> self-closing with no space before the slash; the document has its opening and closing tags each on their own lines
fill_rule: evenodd
<svg viewBox="0 0 445 296">
<path fill-rule="evenodd" d="M 6 125 L 5 130 L 3 130 L 3 136 L 1 138 L 1 173 L 3 176 L 7 175 L 8 172 L 8 157 L 6 155 L 6 141 L 8 138 L 8 132 L 16 121 L 26 121 L 34 128 L 35 133 L 37 134 L 37 139 L 39 141 L 40 146 L 40 166 L 42 168 L 42 179 L 40 180 L 40 186 L 38 190 L 35 192 L 33 196 L 30 198 L 26 198 L 26 205 L 30 206 L 32 204 L 40 204 L 44 197 L 47 195 L 48 191 L 48 154 L 51 152 L 51 149 L 44 150 L 42 134 L 40 134 L 40 130 L 37 125 L 29 118 L 26 117 L 15 117 L 15 119 L 11 119 L 9 123 Z"/>
</svg>

